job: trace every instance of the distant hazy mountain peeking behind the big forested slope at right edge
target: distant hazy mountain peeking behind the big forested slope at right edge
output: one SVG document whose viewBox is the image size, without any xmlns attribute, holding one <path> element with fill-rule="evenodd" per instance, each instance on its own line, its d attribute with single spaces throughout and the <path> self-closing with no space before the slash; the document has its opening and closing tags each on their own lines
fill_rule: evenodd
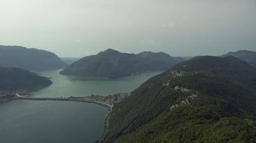
<svg viewBox="0 0 256 143">
<path fill-rule="evenodd" d="M 239 58 L 248 64 L 251 64 L 252 66 L 256 67 L 256 52 L 248 51 L 248 50 L 239 50 L 237 52 L 229 52 L 225 55 L 222 55 L 222 57 L 225 56 L 235 56 L 236 58 Z"/>
</svg>

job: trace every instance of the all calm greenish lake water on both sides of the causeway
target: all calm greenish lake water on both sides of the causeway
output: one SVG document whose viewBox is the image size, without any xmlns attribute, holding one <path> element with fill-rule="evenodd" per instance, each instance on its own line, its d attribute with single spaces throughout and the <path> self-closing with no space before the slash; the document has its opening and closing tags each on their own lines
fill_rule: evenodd
<svg viewBox="0 0 256 143">
<path fill-rule="evenodd" d="M 160 72 L 121 79 L 85 79 L 59 75 L 60 70 L 41 72 L 54 84 L 30 93 L 33 97 L 110 95 L 130 92 Z M 108 108 L 68 101 L 16 100 L 0 104 L 0 142 L 92 142 L 104 131 Z"/>
</svg>

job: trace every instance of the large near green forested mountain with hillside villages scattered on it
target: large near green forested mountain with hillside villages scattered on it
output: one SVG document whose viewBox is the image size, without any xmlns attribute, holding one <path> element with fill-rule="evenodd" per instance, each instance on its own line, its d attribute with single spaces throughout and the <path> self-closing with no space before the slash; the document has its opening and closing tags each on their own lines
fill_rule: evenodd
<svg viewBox="0 0 256 143">
<path fill-rule="evenodd" d="M 256 142 L 256 69 L 198 56 L 116 104 L 102 142 Z"/>
</svg>

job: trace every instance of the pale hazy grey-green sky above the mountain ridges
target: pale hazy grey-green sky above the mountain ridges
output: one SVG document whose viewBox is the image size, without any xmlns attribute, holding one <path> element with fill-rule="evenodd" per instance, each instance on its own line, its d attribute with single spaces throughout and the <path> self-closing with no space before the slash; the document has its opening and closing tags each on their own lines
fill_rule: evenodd
<svg viewBox="0 0 256 143">
<path fill-rule="evenodd" d="M 256 51 L 255 0 L 0 0 L 0 45 L 82 57 Z"/>
</svg>

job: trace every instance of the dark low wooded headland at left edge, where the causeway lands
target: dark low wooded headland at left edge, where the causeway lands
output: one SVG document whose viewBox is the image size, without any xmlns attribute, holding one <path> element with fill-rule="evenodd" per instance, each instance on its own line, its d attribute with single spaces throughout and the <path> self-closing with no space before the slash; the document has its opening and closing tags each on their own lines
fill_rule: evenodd
<svg viewBox="0 0 256 143">
<path fill-rule="evenodd" d="M 13 95 L 13 92 L 19 90 L 30 90 L 52 84 L 48 78 L 21 68 L 0 67 L 0 79 L 0 97 Z"/>
</svg>

